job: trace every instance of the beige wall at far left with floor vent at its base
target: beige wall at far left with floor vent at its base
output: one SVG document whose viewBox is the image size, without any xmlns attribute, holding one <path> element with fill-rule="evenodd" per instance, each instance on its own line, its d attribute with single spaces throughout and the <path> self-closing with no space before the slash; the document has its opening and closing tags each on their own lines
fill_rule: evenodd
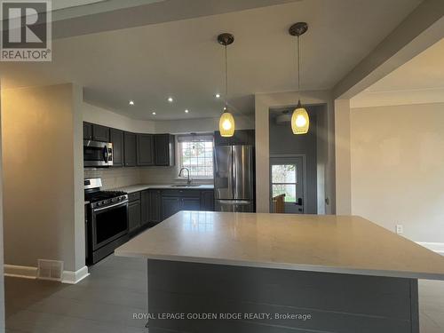
<svg viewBox="0 0 444 333">
<path fill-rule="evenodd" d="M 72 84 L 2 91 L 5 264 L 84 266 L 81 95 Z"/>
</svg>

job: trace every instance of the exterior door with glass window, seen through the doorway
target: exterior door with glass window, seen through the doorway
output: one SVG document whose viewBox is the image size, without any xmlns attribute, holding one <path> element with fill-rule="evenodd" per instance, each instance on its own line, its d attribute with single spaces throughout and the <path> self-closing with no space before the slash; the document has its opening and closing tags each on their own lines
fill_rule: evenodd
<svg viewBox="0 0 444 333">
<path fill-rule="evenodd" d="M 270 159 L 270 198 L 285 194 L 285 213 L 304 214 L 304 157 L 272 157 Z M 272 210 L 273 202 L 270 206 Z"/>
</svg>

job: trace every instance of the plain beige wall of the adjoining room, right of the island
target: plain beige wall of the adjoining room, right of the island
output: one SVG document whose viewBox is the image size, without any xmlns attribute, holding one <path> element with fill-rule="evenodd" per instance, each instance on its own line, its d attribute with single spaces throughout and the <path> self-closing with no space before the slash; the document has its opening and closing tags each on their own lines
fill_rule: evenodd
<svg viewBox="0 0 444 333">
<path fill-rule="evenodd" d="M 352 212 L 444 242 L 444 104 L 353 108 Z"/>
</svg>

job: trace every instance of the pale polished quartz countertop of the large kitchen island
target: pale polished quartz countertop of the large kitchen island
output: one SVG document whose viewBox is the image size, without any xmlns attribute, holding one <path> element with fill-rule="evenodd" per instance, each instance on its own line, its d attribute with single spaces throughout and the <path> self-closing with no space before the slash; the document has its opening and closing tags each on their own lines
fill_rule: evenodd
<svg viewBox="0 0 444 333">
<path fill-rule="evenodd" d="M 355 216 L 181 211 L 117 256 L 444 280 L 444 257 Z"/>
</svg>

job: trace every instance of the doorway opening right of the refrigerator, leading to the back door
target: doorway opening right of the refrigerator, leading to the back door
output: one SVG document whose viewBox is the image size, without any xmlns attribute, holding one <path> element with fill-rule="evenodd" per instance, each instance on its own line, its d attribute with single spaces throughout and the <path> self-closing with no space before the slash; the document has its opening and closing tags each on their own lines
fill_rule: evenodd
<svg viewBox="0 0 444 333">
<path fill-rule="evenodd" d="M 308 133 L 295 135 L 290 119 L 295 107 L 270 108 L 270 211 L 283 196 L 283 213 L 325 213 L 327 161 L 327 106 L 305 106 L 310 117 Z M 282 200 L 279 197 L 279 200 Z"/>
</svg>

